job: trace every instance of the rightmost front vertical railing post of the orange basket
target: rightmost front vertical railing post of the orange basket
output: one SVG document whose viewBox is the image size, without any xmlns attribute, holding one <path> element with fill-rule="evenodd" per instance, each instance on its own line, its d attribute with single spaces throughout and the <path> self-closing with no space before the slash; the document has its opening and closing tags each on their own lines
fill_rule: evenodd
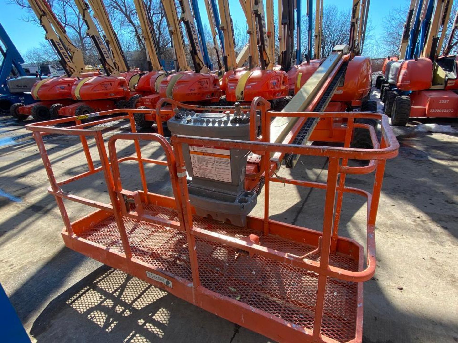
<svg viewBox="0 0 458 343">
<path fill-rule="evenodd" d="M 320 255 L 320 269 L 327 270 L 329 266 L 329 254 L 331 249 L 331 235 L 334 219 L 334 203 L 336 198 L 339 158 L 329 158 L 327 170 L 326 199 L 323 215 L 323 236 Z M 318 276 L 318 289 L 316 292 L 315 319 L 313 323 L 313 338 L 321 337 L 321 324 L 323 319 L 324 299 L 326 296 L 327 276 Z"/>
</svg>

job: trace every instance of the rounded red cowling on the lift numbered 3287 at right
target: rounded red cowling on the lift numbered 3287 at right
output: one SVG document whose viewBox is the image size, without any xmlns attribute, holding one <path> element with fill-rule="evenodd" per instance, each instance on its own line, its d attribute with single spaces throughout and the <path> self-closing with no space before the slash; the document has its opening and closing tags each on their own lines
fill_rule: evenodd
<svg viewBox="0 0 458 343">
<path fill-rule="evenodd" d="M 396 87 L 401 91 L 422 91 L 432 85 L 433 64 L 431 59 L 421 57 L 403 61 L 399 68 Z"/>
</svg>

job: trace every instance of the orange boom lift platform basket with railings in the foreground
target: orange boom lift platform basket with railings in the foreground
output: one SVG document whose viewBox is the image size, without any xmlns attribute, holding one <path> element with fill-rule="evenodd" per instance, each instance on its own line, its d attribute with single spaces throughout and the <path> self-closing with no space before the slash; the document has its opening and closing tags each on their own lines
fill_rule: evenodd
<svg viewBox="0 0 458 343">
<path fill-rule="evenodd" d="M 269 132 L 266 130 L 265 137 L 258 141 L 173 136 L 172 149 L 159 134 L 136 132 L 135 111 L 138 110 L 92 113 L 90 116 L 97 119 L 92 123 L 82 124 L 82 118 L 75 117 L 27 125 L 27 129 L 33 131 L 48 173 L 49 193 L 55 196 L 65 223 L 62 231 L 65 245 L 279 342 L 361 342 L 363 282 L 371 279 L 376 268 L 375 222 L 383 174 L 386 160 L 395 157 L 399 147 L 387 116 L 263 110 L 265 123 L 270 123 L 273 116 L 344 118 L 348 122 L 344 147 L 267 143 Z M 105 116 L 114 113 L 119 116 Z M 356 118 L 381 120 L 380 142 L 373 127 L 366 125 L 371 132 L 373 149 L 349 148 Z M 111 136 L 104 137 L 102 130 L 118 119 L 129 121 L 132 132 L 110 131 Z M 55 126 L 73 120 L 74 126 Z M 97 126 L 101 123 L 104 125 Z M 90 130 L 85 129 L 89 126 Z M 79 136 L 88 170 L 66 180 L 56 180 L 43 141 L 46 134 Z M 101 166 L 94 166 L 87 137 L 95 139 Z M 131 140 L 135 154 L 119 158 L 116 152 L 119 140 Z M 165 160 L 142 157 L 142 150 L 147 147 L 141 148 L 141 141 L 161 145 Z M 275 152 L 324 156 L 329 160 L 327 181 L 271 176 L 270 164 L 265 163 L 262 218 L 248 216 L 246 227 L 237 227 L 198 217 L 190 204 L 186 183 L 183 157 L 186 144 L 246 149 L 266 156 Z M 370 162 L 355 167 L 348 166 L 349 159 Z M 142 189 L 123 188 L 119 166 L 124 161 L 138 163 Z M 168 167 L 174 197 L 148 190 L 144 165 L 149 163 Z M 96 173 L 107 184 L 109 204 L 61 189 L 62 185 L 94 177 Z M 368 173 L 374 173 L 372 193 L 345 186 L 346 175 Z M 325 192 L 322 231 L 269 219 L 269 205 L 275 201 L 270 194 L 271 182 Z M 364 248 L 358 242 L 338 236 L 344 194 L 349 193 L 367 199 L 367 264 Z M 64 199 L 93 207 L 95 211 L 70 222 Z"/>
</svg>

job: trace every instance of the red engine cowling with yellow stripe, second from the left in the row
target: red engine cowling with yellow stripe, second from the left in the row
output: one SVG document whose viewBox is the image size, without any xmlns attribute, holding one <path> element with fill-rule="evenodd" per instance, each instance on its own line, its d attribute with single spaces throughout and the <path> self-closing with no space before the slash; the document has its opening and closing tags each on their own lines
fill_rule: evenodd
<svg viewBox="0 0 458 343">
<path fill-rule="evenodd" d="M 129 94 L 129 86 L 124 77 L 94 76 L 78 80 L 71 87 L 74 100 L 114 99 L 128 97 Z"/>
</svg>

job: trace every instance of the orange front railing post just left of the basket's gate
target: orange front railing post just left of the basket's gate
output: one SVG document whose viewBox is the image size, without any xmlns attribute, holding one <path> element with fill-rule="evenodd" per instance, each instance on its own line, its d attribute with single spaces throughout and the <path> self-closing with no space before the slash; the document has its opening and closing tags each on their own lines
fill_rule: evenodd
<svg viewBox="0 0 458 343">
<path fill-rule="evenodd" d="M 113 213 L 116 223 L 118 224 L 118 230 L 121 237 L 122 247 L 124 248 L 125 257 L 128 259 L 132 258 L 132 251 L 131 246 L 129 244 L 129 238 L 125 231 L 124 220 L 122 219 L 121 215 L 121 208 L 118 202 L 118 197 L 116 196 L 115 188 L 114 188 L 114 181 L 113 176 L 110 170 L 110 164 L 108 161 L 107 150 L 105 149 L 104 138 L 100 131 L 96 131 L 95 135 L 95 143 L 97 145 L 98 155 L 100 157 L 100 162 L 102 164 L 102 170 L 104 171 L 105 182 L 107 184 L 108 194 L 111 200 L 111 205 L 113 206 Z"/>
</svg>

